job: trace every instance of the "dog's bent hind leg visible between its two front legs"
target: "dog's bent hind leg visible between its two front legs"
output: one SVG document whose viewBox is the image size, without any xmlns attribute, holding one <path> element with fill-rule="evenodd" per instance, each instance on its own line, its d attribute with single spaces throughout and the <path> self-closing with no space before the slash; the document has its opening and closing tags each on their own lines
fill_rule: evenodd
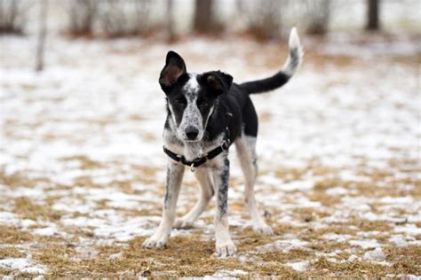
<svg viewBox="0 0 421 280">
<path fill-rule="evenodd" d="M 182 218 L 176 220 L 176 222 L 174 223 L 175 229 L 193 228 L 193 224 L 200 216 L 200 214 L 202 214 L 203 211 L 206 209 L 206 206 L 208 206 L 209 202 L 211 201 L 211 198 L 213 197 L 214 191 L 208 168 L 198 167 L 195 171 L 195 176 L 202 188 L 201 198 L 199 198 L 199 201 L 197 201 L 196 205 L 192 208 L 192 210 L 190 210 Z"/>
</svg>

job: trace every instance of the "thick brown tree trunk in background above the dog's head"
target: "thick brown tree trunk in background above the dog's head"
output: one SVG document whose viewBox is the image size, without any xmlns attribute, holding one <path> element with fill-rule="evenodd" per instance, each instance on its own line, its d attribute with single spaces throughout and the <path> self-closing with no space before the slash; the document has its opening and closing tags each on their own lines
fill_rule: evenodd
<svg viewBox="0 0 421 280">
<path fill-rule="evenodd" d="M 195 0 L 195 32 L 211 33 L 215 30 L 212 13 L 213 0 Z"/>
</svg>

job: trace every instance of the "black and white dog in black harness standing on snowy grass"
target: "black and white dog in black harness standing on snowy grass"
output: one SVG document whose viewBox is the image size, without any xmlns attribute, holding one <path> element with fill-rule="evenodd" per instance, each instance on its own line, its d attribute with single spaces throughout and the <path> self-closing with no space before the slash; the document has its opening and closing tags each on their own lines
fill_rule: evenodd
<svg viewBox="0 0 421 280">
<path fill-rule="evenodd" d="M 245 204 L 253 229 L 271 235 L 273 230 L 258 214 L 254 183 L 258 174 L 256 139 L 258 116 L 249 97 L 252 93 L 277 89 L 298 70 L 303 51 L 295 28 L 290 32 L 290 53 L 282 70 L 263 80 L 233 83 L 233 77 L 220 71 L 187 73 L 186 65 L 169 51 L 159 83 L 167 100 L 167 120 L 163 130 L 164 152 L 169 156 L 163 220 L 143 246 L 163 248 L 171 229 L 193 227 L 212 196 L 216 194 L 215 239 L 218 256 L 231 256 L 235 245 L 227 221 L 227 192 L 230 144 L 235 144 L 245 176 Z M 185 166 L 195 171 L 202 195 L 193 209 L 176 220 L 176 204 Z"/>
</svg>

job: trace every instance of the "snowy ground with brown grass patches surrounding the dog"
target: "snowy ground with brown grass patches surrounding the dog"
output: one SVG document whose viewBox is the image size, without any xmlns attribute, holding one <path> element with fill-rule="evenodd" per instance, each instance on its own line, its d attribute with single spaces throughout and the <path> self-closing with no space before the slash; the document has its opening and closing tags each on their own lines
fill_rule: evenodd
<svg viewBox="0 0 421 280">
<path fill-rule="evenodd" d="M 164 251 L 140 248 L 163 201 L 164 56 L 237 82 L 282 66 L 285 46 L 239 40 L 54 36 L 34 74 L 34 38 L 3 37 L 0 276 L 421 276 L 419 37 L 304 38 L 298 76 L 253 97 L 257 198 L 274 237 L 248 228 L 231 151 L 237 256 L 212 254 L 213 205 Z M 188 172 L 179 214 L 198 190 Z"/>
</svg>

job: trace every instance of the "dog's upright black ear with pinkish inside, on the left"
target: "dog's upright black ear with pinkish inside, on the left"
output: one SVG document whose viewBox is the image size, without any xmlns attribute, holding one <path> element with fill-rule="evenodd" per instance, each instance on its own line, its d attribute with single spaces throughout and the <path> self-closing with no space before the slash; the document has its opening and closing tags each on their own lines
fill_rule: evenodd
<svg viewBox="0 0 421 280">
<path fill-rule="evenodd" d="M 187 74 L 186 64 L 183 58 L 175 51 L 168 51 L 167 58 L 165 58 L 165 66 L 159 76 L 159 84 L 163 91 L 171 89 L 171 86 L 179 81 L 179 77 Z"/>
</svg>

